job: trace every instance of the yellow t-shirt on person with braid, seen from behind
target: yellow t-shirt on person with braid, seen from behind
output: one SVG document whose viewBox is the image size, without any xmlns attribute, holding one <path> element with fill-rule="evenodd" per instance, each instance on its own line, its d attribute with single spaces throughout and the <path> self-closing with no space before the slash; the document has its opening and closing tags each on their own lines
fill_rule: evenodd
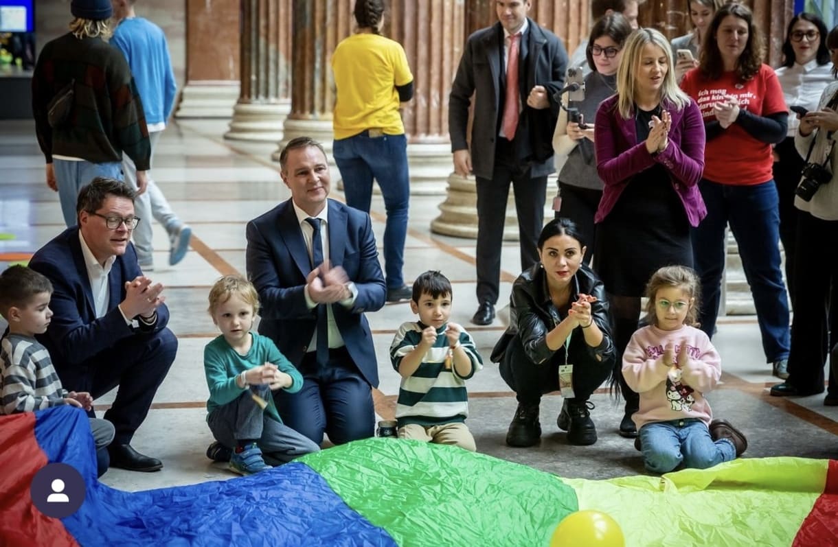
<svg viewBox="0 0 838 547">
<path fill-rule="evenodd" d="M 405 132 L 396 85 L 411 83 L 413 75 L 400 44 L 378 34 L 353 34 L 334 50 L 332 71 L 338 91 L 335 139 L 367 129 L 380 129 L 388 135 Z"/>
</svg>

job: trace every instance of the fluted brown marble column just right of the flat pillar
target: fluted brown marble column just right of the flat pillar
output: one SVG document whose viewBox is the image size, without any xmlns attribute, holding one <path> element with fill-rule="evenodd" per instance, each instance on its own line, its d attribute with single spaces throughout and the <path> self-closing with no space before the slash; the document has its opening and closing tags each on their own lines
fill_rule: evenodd
<svg viewBox="0 0 838 547">
<path fill-rule="evenodd" d="M 225 138 L 282 140 L 291 111 L 291 0 L 240 0 L 241 91 Z"/>
</svg>

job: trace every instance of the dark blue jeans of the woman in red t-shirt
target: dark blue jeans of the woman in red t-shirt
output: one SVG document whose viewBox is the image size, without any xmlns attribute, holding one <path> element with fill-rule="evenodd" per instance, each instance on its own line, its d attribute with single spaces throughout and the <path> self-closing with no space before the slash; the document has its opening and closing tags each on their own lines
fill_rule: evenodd
<svg viewBox="0 0 838 547">
<path fill-rule="evenodd" d="M 707 216 L 692 232 L 693 258 L 701 276 L 701 330 L 712 336 L 722 298 L 730 223 L 757 308 L 763 351 L 768 363 L 789 359 L 789 300 L 780 271 L 779 212 L 773 180 L 753 186 L 731 186 L 702 179 Z"/>
</svg>

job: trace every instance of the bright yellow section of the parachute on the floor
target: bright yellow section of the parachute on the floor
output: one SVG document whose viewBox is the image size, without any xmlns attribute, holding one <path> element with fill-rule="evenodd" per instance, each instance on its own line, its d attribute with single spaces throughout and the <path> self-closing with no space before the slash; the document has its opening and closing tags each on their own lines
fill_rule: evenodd
<svg viewBox="0 0 838 547">
<path fill-rule="evenodd" d="M 828 460 L 740 459 L 663 477 L 563 479 L 579 508 L 608 513 L 626 547 L 790 545 L 823 492 Z"/>
</svg>

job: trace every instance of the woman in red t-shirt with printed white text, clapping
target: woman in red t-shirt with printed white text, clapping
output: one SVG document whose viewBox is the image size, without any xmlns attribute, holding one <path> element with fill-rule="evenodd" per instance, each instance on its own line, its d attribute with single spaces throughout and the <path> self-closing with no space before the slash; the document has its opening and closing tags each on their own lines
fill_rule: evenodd
<svg viewBox="0 0 838 547">
<path fill-rule="evenodd" d="M 771 145 L 783 141 L 789 113 L 777 76 L 761 61 L 763 39 L 750 9 L 722 6 L 707 38 L 701 64 L 681 82 L 701 108 L 707 135 L 699 183 L 707 216 L 692 237 L 705 302 L 701 329 L 711 336 L 716 328 L 729 223 L 757 308 L 765 357 L 773 374 L 786 378 L 789 304 L 780 271 Z"/>
</svg>

